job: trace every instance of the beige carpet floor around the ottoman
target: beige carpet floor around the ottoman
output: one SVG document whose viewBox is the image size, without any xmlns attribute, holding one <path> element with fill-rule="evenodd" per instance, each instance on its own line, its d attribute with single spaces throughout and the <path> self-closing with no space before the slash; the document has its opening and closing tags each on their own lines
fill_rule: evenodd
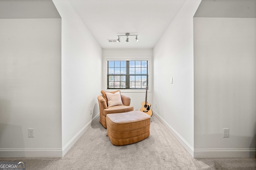
<svg viewBox="0 0 256 170">
<path fill-rule="evenodd" d="M 114 146 L 99 118 L 63 158 L 0 158 L 24 161 L 26 170 L 256 170 L 255 158 L 194 159 L 154 115 L 150 136 Z"/>
</svg>

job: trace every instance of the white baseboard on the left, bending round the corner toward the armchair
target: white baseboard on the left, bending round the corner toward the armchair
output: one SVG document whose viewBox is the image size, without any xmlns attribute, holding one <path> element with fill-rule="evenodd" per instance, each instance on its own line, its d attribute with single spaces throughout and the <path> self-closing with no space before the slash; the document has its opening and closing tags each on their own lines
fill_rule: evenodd
<svg viewBox="0 0 256 170">
<path fill-rule="evenodd" d="M 99 116 L 100 113 L 94 116 L 62 149 L 6 148 L 0 149 L 0 158 L 62 158 Z"/>
</svg>

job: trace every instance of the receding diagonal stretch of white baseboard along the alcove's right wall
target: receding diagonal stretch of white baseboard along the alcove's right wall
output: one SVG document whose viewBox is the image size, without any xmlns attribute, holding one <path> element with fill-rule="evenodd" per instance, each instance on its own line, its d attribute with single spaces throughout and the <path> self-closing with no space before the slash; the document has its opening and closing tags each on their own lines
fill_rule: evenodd
<svg viewBox="0 0 256 170">
<path fill-rule="evenodd" d="M 156 117 L 158 117 L 158 119 L 167 127 L 167 129 L 169 129 L 171 131 L 171 133 L 176 137 L 176 139 L 178 139 L 178 141 L 181 143 L 181 145 L 188 151 L 189 154 L 191 154 L 191 156 L 194 156 L 194 149 L 192 146 L 189 145 L 189 143 L 183 139 L 183 137 L 176 132 L 171 125 L 169 125 L 156 111 L 153 111 L 154 115 L 156 115 Z"/>
</svg>

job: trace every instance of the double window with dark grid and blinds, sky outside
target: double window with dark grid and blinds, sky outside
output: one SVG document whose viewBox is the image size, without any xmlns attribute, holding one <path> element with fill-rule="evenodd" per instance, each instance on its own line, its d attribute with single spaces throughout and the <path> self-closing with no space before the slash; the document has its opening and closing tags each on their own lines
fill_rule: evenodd
<svg viewBox="0 0 256 170">
<path fill-rule="evenodd" d="M 148 61 L 107 61 L 108 89 L 144 89 L 148 86 Z"/>
</svg>

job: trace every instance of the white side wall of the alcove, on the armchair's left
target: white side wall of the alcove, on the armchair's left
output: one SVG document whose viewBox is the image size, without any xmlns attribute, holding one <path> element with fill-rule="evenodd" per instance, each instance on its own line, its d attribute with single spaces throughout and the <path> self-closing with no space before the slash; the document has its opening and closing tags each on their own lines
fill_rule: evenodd
<svg viewBox="0 0 256 170">
<path fill-rule="evenodd" d="M 102 90 L 102 84 L 99 83 L 102 81 L 102 48 L 67 0 L 53 2 L 62 17 L 64 156 L 99 113 L 97 96 Z"/>
</svg>

